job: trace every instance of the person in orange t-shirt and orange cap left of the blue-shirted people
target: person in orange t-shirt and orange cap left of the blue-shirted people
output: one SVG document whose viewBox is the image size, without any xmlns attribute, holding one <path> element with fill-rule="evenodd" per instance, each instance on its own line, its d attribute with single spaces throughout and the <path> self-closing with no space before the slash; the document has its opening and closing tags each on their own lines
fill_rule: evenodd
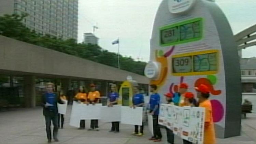
<svg viewBox="0 0 256 144">
<path fill-rule="evenodd" d="M 87 102 L 95 105 L 95 103 L 99 103 L 100 100 L 100 92 L 95 90 L 95 84 L 90 84 L 90 92 L 88 93 Z M 99 130 L 98 129 L 98 119 L 91 120 L 91 128 L 88 130 Z"/>
</svg>

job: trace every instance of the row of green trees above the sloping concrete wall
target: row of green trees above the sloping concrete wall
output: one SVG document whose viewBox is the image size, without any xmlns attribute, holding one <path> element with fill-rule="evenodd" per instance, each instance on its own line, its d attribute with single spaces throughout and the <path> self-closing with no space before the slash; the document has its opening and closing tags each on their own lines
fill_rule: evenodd
<svg viewBox="0 0 256 144">
<path fill-rule="evenodd" d="M 77 44 L 74 39 L 62 40 L 60 38 L 52 37 L 51 35 L 38 34 L 35 31 L 26 28 L 22 23 L 26 16 L 27 14 L 0 16 L 0 34 L 118 68 L 118 55 L 116 53 L 104 50 L 98 45 L 86 45 L 84 43 Z M 120 68 L 123 70 L 144 75 L 145 65 L 145 62 L 134 61 L 131 57 L 120 56 Z"/>
</svg>

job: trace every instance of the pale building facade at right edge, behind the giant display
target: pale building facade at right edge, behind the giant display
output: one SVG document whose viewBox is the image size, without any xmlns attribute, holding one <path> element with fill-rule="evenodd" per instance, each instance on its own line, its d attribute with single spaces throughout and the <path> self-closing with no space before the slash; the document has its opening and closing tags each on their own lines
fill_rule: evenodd
<svg viewBox="0 0 256 144">
<path fill-rule="evenodd" d="M 243 92 L 256 92 L 256 58 L 242 58 L 240 65 Z"/>
</svg>

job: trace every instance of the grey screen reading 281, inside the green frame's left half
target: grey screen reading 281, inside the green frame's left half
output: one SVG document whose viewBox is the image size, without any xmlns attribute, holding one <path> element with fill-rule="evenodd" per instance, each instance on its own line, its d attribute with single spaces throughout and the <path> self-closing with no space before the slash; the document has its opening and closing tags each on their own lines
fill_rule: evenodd
<svg viewBox="0 0 256 144">
<path fill-rule="evenodd" d="M 161 30 L 161 44 L 168 44 L 179 41 L 179 27 Z"/>
</svg>

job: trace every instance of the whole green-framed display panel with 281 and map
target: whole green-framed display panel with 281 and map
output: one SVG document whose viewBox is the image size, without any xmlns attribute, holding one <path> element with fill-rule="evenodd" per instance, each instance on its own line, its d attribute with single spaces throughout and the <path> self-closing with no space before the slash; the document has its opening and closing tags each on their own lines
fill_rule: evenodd
<svg viewBox="0 0 256 144">
<path fill-rule="evenodd" d="M 160 28 L 160 45 L 167 46 L 197 41 L 202 38 L 202 18 L 182 21 Z"/>
</svg>

